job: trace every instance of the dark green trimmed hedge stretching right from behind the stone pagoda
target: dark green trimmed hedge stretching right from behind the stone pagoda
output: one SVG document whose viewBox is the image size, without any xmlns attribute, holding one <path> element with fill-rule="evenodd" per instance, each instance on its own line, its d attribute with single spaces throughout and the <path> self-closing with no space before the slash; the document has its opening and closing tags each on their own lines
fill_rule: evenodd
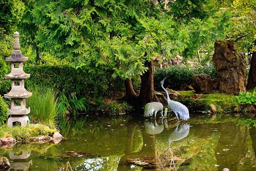
<svg viewBox="0 0 256 171">
<path fill-rule="evenodd" d="M 55 88 L 67 96 L 109 95 L 115 89 L 124 88 L 123 81 L 112 78 L 111 71 L 91 72 L 66 65 L 25 66 L 24 71 L 31 74 L 25 83 L 27 87 Z"/>
</svg>

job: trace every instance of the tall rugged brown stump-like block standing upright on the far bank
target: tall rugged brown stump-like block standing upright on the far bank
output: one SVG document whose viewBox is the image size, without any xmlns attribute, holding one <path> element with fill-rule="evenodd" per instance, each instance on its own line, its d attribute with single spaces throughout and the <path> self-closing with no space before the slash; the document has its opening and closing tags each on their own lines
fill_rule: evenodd
<svg viewBox="0 0 256 171">
<path fill-rule="evenodd" d="M 220 75 L 219 90 L 224 93 L 246 91 L 246 60 L 245 55 L 237 53 L 233 40 L 217 40 L 212 61 Z"/>
</svg>

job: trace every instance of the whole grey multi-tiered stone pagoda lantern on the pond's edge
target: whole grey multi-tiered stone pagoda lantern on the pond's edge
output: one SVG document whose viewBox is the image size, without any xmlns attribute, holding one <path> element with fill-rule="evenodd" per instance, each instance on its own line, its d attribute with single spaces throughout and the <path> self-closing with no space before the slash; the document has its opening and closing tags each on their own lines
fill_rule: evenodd
<svg viewBox="0 0 256 171">
<path fill-rule="evenodd" d="M 32 96 L 32 93 L 25 89 L 25 79 L 30 77 L 23 71 L 23 62 L 28 58 L 22 55 L 19 50 L 19 33 L 14 33 L 14 50 L 6 61 L 11 62 L 11 73 L 5 75 L 6 79 L 11 79 L 12 89 L 9 93 L 5 94 L 5 98 L 11 98 L 11 109 L 9 110 L 9 117 L 7 125 L 13 126 L 14 122 L 20 122 L 21 126 L 29 124 L 30 108 L 26 108 L 26 98 Z"/>
</svg>

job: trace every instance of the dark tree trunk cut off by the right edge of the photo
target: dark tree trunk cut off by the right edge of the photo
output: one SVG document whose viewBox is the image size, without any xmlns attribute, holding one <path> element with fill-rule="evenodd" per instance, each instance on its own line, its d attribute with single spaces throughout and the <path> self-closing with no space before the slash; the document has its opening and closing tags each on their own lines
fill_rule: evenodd
<svg viewBox="0 0 256 171">
<path fill-rule="evenodd" d="M 254 46 L 256 46 L 256 39 L 254 40 Z M 255 51 L 252 53 L 252 57 L 251 57 L 251 65 L 250 65 L 246 89 L 253 89 L 254 87 L 256 87 L 256 52 Z"/>
</svg>

